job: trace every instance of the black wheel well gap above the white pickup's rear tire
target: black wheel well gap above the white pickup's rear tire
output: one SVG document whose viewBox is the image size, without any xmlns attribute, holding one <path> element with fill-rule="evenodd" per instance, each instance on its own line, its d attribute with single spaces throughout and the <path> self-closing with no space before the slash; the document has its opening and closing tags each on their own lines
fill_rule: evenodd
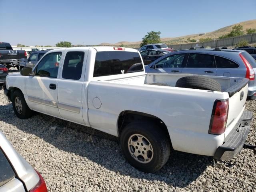
<svg viewBox="0 0 256 192">
<path fill-rule="evenodd" d="M 126 125 L 136 120 L 149 120 L 151 122 L 155 122 L 156 124 L 158 124 L 158 126 L 160 126 L 160 128 L 164 130 L 164 132 L 166 132 L 170 140 L 168 129 L 160 118 L 154 115 L 137 112 L 137 111 L 123 111 L 120 113 L 118 118 L 118 135 L 119 136 L 121 135 L 122 130 L 125 128 Z"/>
</svg>

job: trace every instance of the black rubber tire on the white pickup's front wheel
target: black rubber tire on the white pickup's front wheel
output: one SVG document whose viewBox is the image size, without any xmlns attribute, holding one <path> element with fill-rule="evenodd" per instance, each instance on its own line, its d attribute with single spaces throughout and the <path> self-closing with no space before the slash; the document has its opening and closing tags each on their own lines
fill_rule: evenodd
<svg viewBox="0 0 256 192">
<path fill-rule="evenodd" d="M 16 106 L 18 103 L 20 103 L 21 110 L 19 110 L 20 108 Z M 28 107 L 24 95 L 19 90 L 14 91 L 12 94 L 12 107 L 18 118 L 28 119 L 32 117 L 32 110 Z"/>
</svg>

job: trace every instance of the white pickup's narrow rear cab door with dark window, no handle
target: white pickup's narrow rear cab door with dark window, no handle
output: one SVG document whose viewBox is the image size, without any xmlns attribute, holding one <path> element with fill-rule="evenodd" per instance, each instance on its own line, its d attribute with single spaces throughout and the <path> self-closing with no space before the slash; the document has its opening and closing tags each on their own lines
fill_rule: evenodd
<svg viewBox="0 0 256 192">
<path fill-rule="evenodd" d="M 88 86 L 84 82 L 87 55 L 88 50 L 80 48 L 66 52 L 57 90 L 60 116 L 80 124 L 86 124 L 83 114 L 87 116 L 87 108 L 82 107 L 83 102 L 87 103 L 82 100 L 82 90 Z"/>
</svg>

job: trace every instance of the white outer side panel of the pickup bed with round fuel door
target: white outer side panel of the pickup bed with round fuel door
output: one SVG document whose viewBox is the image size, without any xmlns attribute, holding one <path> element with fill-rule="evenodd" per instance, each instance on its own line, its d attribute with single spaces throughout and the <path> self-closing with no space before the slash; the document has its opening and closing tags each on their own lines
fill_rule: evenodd
<svg viewBox="0 0 256 192">
<path fill-rule="evenodd" d="M 94 107 L 94 98 L 100 100 L 99 109 Z M 122 111 L 151 114 L 166 124 L 175 150 L 214 155 L 224 134 L 210 135 L 208 129 L 214 101 L 224 98 L 228 98 L 227 93 L 92 81 L 88 116 L 93 128 L 118 136 L 117 122 Z"/>
</svg>

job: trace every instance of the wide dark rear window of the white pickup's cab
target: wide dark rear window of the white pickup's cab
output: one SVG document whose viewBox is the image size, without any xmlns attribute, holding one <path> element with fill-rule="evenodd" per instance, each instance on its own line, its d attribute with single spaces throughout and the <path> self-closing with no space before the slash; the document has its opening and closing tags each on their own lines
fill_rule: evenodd
<svg viewBox="0 0 256 192">
<path fill-rule="evenodd" d="M 94 77 L 142 71 L 143 65 L 138 52 L 102 51 L 96 53 Z"/>
</svg>

